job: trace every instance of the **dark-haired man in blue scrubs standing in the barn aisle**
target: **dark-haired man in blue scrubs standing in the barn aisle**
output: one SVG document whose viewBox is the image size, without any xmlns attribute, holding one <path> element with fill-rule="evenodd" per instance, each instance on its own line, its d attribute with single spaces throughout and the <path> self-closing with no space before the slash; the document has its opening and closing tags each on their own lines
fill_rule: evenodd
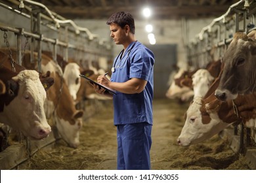
<svg viewBox="0 0 256 183">
<path fill-rule="evenodd" d="M 97 82 L 116 90 L 116 95 L 94 88 L 97 93 L 113 97 L 117 169 L 150 169 L 154 54 L 135 39 L 131 14 L 117 12 L 106 24 L 110 25 L 110 37 L 123 45 L 123 50 L 114 60 L 111 79 L 101 75 Z"/>
</svg>

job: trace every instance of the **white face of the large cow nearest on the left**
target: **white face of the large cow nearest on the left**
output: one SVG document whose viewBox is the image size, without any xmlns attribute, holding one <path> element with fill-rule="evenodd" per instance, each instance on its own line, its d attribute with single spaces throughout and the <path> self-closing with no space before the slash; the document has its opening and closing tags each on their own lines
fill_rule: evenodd
<svg viewBox="0 0 256 183">
<path fill-rule="evenodd" d="M 51 127 L 45 117 L 43 103 L 46 92 L 39 74 L 37 71 L 24 70 L 12 79 L 18 82 L 18 95 L 5 106 L 1 122 L 21 131 L 32 140 L 47 137 Z"/>
</svg>

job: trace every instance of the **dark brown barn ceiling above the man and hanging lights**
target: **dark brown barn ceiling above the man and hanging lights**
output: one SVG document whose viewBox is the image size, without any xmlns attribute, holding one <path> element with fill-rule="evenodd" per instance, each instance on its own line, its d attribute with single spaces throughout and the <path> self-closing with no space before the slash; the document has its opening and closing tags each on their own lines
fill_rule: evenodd
<svg viewBox="0 0 256 183">
<path fill-rule="evenodd" d="M 5 0 L 5 2 L 11 0 Z M 18 0 L 12 0 L 18 1 Z M 238 0 L 34 0 L 67 19 L 104 19 L 117 11 L 143 18 L 143 7 L 152 8 L 152 19 L 207 18 L 221 16 Z M 25 5 L 30 5 L 24 2 Z"/>
</svg>

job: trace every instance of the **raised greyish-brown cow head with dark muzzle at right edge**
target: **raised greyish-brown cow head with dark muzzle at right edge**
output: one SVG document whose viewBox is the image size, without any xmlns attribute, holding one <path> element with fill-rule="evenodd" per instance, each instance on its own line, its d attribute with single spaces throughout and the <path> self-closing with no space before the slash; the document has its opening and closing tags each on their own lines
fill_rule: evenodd
<svg viewBox="0 0 256 183">
<path fill-rule="evenodd" d="M 255 91 L 256 42 L 244 33 L 236 33 L 224 53 L 223 74 L 215 95 L 223 101 L 236 99 L 238 94 Z"/>
</svg>

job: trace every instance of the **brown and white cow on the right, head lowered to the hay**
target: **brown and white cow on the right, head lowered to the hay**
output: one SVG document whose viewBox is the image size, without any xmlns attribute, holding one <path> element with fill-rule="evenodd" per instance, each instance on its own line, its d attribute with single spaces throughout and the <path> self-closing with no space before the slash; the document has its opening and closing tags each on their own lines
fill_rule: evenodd
<svg viewBox="0 0 256 183">
<path fill-rule="evenodd" d="M 215 90 L 219 85 L 219 78 L 213 82 L 205 97 L 193 99 L 186 111 L 186 121 L 177 142 L 182 146 L 189 146 L 205 141 L 219 133 L 228 125 L 240 120 L 234 112 L 232 101 L 219 101 L 215 97 Z M 238 95 L 234 100 L 239 116 L 247 127 L 253 127 L 256 119 L 256 93 Z"/>
</svg>

